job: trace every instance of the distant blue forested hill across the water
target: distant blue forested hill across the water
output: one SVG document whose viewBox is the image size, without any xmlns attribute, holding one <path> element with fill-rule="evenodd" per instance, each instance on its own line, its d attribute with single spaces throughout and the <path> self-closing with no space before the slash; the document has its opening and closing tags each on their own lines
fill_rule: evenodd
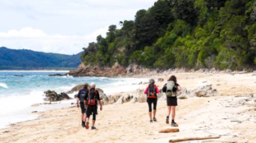
<svg viewBox="0 0 256 143">
<path fill-rule="evenodd" d="M 0 47 L 0 70 L 74 69 L 81 63 L 80 55 Z"/>
</svg>

